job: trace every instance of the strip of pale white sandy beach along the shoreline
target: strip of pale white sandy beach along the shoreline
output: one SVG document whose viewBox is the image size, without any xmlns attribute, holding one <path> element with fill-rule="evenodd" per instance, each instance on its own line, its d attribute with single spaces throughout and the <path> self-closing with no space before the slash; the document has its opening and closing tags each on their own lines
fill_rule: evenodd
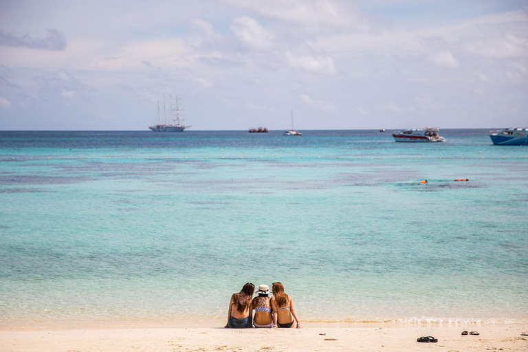
<svg viewBox="0 0 528 352">
<path fill-rule="evenodd" d="M 479 336 L 461 336 L 461 331 Z M 528 351 L 522 326 L 0 331 L 0 351 Z M 419 343 L 434 336 L 437 343 Z"/>
</svg>

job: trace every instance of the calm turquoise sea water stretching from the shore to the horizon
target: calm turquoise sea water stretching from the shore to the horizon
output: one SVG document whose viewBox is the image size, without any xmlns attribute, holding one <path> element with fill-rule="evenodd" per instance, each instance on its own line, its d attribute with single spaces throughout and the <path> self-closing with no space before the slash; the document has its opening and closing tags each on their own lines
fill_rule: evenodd
<svg viewBox="0 0 528 352">
<path fill-rule="evenodd" d="M 528 320 L 528 147 L 303 132 L 0 132 L 0 327 L 223 322 L 248 281 L 301 321 Z"/>
</svg>

